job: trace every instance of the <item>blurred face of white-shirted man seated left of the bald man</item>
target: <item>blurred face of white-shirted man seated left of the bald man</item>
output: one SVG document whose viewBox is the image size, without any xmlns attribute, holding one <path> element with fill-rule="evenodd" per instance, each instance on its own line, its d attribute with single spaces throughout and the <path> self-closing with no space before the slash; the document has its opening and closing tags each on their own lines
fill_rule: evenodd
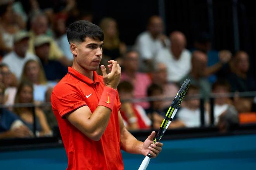
<svg viewBox="0 0 256 170">
<path fill-rule="evenodd" d="M 152 17 L 148 26 L 149 32 L 153 36 L 157 36 L 163 32 L 163 21 L 159 17 Z"/>
</svg>

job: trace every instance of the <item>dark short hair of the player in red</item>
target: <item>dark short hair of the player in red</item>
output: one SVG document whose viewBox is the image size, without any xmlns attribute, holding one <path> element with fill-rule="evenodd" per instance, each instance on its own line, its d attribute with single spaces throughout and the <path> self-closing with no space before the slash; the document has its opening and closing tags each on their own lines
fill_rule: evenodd
<svg viewBox="0 0 256 170">
<path fill-rule="evenodd" d="M 89 21 L 78 20 L 70 24 L 67 29 L 67 40 L 69 44 L 71 44 L 72 41 L 83 42 L 86 37 L 99 39 L 100 41 L 104 40 L 102 29 Z"/>
</svg>

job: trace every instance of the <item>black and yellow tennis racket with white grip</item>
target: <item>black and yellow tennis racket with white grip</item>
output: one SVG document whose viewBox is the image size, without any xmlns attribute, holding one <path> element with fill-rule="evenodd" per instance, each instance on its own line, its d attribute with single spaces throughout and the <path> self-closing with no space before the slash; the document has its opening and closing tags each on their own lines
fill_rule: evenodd
<svg viewBox="0 0 256 170">
<path fill-rule="evenodd" d="M 180 90 L 178 91 L 177 95 L 173 99 L 173 102 L 171 103 L 171 106 L 168 109 L 168 112 L 166 113 L 164 120 L 159 128 L 159 131 L 154 138 L 153 143 L 159 142 L 161 138 L 163 137 L 166 129 L 170 125 L 171 121 L 173 120 L 173 117 L 175 116 L 177 110 L 180 108 L 180 104 L 182 100 L 184 99 L 185 95 L 187 94 L 187 91 L 189 90 L 190 80 L 186 79 L 184 83 L 182 84 Z M 149 165 L 149 161 L 152 155 L 150 153 L 147 154 L 147 156 L 142 161 L 140 167 L 138 170 L 146 170 L 147 165 Z"/>
</svg>

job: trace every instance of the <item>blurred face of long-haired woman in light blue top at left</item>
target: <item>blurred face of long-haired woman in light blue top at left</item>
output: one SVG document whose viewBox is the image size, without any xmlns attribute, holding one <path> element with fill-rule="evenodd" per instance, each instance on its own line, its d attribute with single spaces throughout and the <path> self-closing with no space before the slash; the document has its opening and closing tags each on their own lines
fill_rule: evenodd
<svg viewBox="0 0 256 170">
<path fill-rule="evenodd" d="M 33 83 L 36 83 L 38 81 L 39 71 L 39 65 L 35 61 L 31 61 L 26 65 L 25 74 L 27 75 L 28 79 Z"/>
</svg>

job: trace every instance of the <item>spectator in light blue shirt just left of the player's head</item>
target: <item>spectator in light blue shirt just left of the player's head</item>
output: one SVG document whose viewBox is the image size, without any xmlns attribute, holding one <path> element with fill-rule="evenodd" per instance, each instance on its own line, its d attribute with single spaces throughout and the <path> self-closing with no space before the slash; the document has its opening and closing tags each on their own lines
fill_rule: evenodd
<svg viewBox="0 0 256 170">
<path fill-rule="evenodd" d="M 66 34 L 66 14 L 57 14 L 55 16 L 54 24 L 54 33 L 55 33 L 55 40 L 58 46 L 63 51 L 64 55 L 67 57 L 68 60 L 73 61 L 73 54 L 70 51 L 70 45 L 67 41 L 67 34 Z"/>
</svg>

